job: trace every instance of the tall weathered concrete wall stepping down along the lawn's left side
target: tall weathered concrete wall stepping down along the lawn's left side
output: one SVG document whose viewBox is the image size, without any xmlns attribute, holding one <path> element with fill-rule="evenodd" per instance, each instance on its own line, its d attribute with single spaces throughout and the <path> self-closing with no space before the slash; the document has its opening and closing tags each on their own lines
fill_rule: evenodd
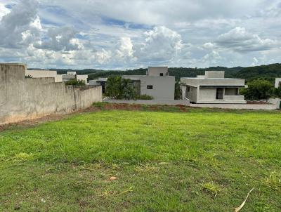
<svg viewBox="0 0 281 212">
<path fill-rule="evenodd" d="M 0 124 L 70 113 L 99 101 L 100 86 L 80 91 L 53 78 L 25 78 L 23 65 L 0 64 Z"/>
</svg>

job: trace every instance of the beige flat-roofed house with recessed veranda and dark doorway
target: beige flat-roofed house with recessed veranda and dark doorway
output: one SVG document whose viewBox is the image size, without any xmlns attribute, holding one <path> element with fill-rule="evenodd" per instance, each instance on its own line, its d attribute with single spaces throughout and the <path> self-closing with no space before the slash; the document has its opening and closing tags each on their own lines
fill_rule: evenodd
<svg viewBox="0 0 281 212">
<path fill-rule="evenodd" d="M 224 77 L 223 71 L 207 71 L 196 78 L 181 78 L 183 99 L 195 103 L 246 104 L 239 88 L 244 88 L 244 79 Z"/>
</svg>

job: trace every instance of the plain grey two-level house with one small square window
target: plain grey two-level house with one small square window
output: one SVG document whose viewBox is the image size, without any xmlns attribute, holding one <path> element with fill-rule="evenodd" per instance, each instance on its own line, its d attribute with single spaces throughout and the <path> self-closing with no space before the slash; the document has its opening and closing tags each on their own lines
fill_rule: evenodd
<svg viewBox="0 0 281 212">
<path fill-rule="evenodd" d="M 174 100 L 175 77 L 168 67 L 148 67 L 146 75 L 123 75 L 131 79 L 138 95 L 151 95 L 155 100 Z"/>
</svg>

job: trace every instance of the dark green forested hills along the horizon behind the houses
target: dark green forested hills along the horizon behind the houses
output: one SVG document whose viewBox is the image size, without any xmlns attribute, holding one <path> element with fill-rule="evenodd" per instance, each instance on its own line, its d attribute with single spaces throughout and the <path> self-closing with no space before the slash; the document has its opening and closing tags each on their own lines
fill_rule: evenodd
<svg viewBox="0 0 281 212">
<path fill-rule="evenodd" d="M 101 69 L 51 69 L 56 70 L 58 74 L 66 74 L 67 71 L 76 71 L 78 74 L 89 74 L 89 79 L 98 79 L 98 77 L 108 77 L 110 75 L 145 75 L 147 69 L 129 69 L 126 71 L 105 71 Z M 255 67 L 209 67 L 209 68 L 188 68 L 188 67 L 170 67 L 169 73 L 176 79 L 181 77 L 196 77 L 203 75 L 205 71 L 225 71 L 226 77 L 240 78 L 251 81 L 253 79 L 267 79 L 273 82 L 276 77 L 281 77 L 281 64 L 261 65 Z"/>
</svg>

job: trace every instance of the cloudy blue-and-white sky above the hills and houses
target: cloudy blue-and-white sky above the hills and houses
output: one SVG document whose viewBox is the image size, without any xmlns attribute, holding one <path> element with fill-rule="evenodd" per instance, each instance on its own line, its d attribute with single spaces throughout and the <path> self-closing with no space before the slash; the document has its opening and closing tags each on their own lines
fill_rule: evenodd
<svg viewBox="0 0 281 212">
<path fill-rule="evenodd" d="M 281 0 L 0 0 L 0 62 L 236 67 L 281 62 Z"/>
</svg>

